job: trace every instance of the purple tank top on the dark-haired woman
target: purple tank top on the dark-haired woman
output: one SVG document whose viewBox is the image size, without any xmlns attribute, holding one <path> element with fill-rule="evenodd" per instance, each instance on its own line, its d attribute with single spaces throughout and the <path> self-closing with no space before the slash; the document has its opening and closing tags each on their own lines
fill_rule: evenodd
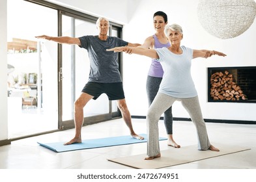
<svg viewBox="0 0 256 182">
<path fill-rule="evenodd" d="M 156 37 L 156 34 L 153 35 L 153 38 L 154 38 L 154 49 L 171 46 L 169 42 L 167 44 L 162 44 L 161 42 L 159 42 L 158 38 Z M 160 62 L 157 61 L 156 59 L 152 59 L 148 75 L 150 75 L 151 77 L 163 77 L 164 70 Z"/>
</svg>

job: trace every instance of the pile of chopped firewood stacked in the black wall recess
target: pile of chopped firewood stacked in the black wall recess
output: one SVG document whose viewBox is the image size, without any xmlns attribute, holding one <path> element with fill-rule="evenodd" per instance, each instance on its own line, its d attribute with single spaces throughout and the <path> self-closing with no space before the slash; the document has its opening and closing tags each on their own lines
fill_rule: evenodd
<svg viewBox="0 0 256 182">
<path fill-rule="evenodd" d="M 213 73 L 210 76 L 210 96 L 214 100 L 246 100 L 248 99 L 240 86 L 235 82 L 233 74 L 227 70 L 222 72 Z"/>
</svg>

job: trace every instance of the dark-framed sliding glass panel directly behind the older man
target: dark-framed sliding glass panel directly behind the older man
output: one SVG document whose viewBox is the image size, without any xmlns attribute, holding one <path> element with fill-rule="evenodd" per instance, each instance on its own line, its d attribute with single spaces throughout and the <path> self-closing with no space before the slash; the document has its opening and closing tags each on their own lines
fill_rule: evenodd
<svg viewBox="0 0 256 182">
<path fill-rule="evenodd" d="M 97 35 L 96 19 L 81 18 L 60 12 L 62 36 L 79 37 L 84 35 Z M 117 30 L 109 34 L 117 35 Z M 78 45 L 60 45 L 61 59 L 59 64 L 59 88 L 60 88 L 60 127 L 67 129 L 74 127 L 74 101 L 81 94 L 83 86 L 88 81 L 90 62 L 86 49 Z M 109 101 L 106 94 L 98 99 L 92 99 L 83 110 L 84 125 L 104 120 L 110 120 L 113 116 L 121 116 L 115 101 Z"/>
</svg>

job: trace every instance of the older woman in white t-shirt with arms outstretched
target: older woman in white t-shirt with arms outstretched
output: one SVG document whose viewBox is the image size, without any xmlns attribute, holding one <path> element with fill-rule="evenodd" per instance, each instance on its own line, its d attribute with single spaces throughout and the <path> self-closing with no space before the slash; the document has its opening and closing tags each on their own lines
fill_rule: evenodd
<svg viewBox="0 0 256 182">
<path fill-rule="evenodd" d="M 135 53 L 145 55 L 158 61 L 164 69 L 162 83 L 158 94 L 149 107 L 147 113 L 148 142 L 146 160 L 161 157 L 159 146 L 158 120 L 162 113 L 171 107 L 175 101 L 181 101 L 183 107 L 188 111 L 192 122 L 195 124 L 198 136 L 198 149 L 220 151 L 210 144 L 206 131 L 205 121 L 199 105 L 197 90 L 190 73 L 192 59 L 197 57 L 208 58 L 212 55 L 225 57 L 226 55 L 218 51 L 194 50 L 185 46 L 180 46 L 183 38 L 182 27 L 177 24 L 165 26 L 170 47 L 159 49 L 143 49 L 141 47 L 115 47 L 108 51 Z"/>
</svg>

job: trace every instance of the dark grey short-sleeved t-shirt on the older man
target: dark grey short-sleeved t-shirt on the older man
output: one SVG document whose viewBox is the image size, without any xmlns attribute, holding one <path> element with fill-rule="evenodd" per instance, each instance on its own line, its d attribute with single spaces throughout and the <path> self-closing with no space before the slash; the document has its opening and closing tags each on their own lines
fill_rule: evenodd
<svg viewBox="0 0 256 182">
<path fill-rule="evenodd" d="M 82 48 L 87 49 L 90 59 L 89 81 L 98 83 L 121 82 L 118 53 L 106 51 L 113 47 L 128 45 L 128 42 L 115 36 L 107 36 L 107 40 L 100 40 L 98 36 L 79 37 Z"/>
</svg>

